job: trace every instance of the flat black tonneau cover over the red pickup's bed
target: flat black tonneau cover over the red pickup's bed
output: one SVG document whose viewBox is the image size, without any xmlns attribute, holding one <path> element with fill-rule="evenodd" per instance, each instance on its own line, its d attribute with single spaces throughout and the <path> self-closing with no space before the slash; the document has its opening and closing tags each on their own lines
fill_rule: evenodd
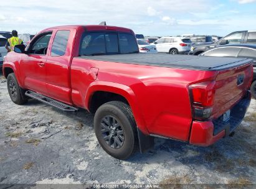
<svg viewBox="0 0 256 189">
<path fill-rule="evenodd" d="M 194 55 L 169 55 L 165 53 L 130 53 L 117 55 L 81 56 L 88 60 L 151 65 L 156 67 L 186 68 L 192 70 L 225 70 L 252 62 L 247 58 L 201 57 Z"/>
</svg>

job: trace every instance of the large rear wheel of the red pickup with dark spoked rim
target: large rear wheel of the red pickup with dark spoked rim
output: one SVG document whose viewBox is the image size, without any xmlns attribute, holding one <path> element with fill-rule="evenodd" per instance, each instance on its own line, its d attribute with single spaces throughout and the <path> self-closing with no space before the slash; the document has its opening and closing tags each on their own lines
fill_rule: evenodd
<svg viewBox="0 0 256 189">
<path fill-rule="evenodd" d="M 97 109 L 94 131 L 103 150 L 116 159 L 128 159 L 137 148 L 135 119 L 130 106 L 121 101 L 110 101 Z"/>
</svg>

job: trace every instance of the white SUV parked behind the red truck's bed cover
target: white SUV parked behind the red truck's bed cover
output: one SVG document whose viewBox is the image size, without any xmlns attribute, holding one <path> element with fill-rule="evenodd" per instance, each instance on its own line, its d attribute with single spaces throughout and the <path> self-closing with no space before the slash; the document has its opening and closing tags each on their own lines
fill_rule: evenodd
<svg viewBox="0 0 256 189">
<path fill-rule="evenodd" d="M 187 54 L 191 48 L 191 40 L 184 37 L 161 37 L 154 42 L 158 52 L 170 54 Z"/>
</svg>

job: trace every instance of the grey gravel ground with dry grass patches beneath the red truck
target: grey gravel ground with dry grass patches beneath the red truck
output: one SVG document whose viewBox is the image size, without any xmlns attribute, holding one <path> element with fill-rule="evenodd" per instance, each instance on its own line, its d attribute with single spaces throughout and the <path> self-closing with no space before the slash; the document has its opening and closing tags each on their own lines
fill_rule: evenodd
<svg viewBox="0 0 256 189">
<path fill-rule="evenodd" d="M 256 184 L 255 100 L 234 137 L 210 147 L 156 139 L 154 150 L 137 152 L 129 160 L 116 160 L 102 150 L 93 116 L 86 111 L 64 113 L 34 100 L 18 106 L 9 98 L 5 80 L 0 80 L 0 104 L 0 188 L 35 183 Z"/>
</svg>

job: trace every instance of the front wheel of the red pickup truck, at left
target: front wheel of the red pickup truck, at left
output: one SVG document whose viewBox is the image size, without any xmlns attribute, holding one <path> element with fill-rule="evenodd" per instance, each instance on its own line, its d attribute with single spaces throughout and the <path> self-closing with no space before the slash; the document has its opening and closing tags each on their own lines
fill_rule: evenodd
<svg viewBox="0 0 256 189">
<path fill-rule="evenodd" d="M 21 92 L 21 89 L 19 88 L 19 84 L 16 80 L 16 76 L 14 75 L 14 73 L 10 73 L 7 76 L 7 89 L 12 102 L 14 102 L 15 104 L 21 105 L 27 102 L 27 99 L 22 98 L 21 93 L 24 93 L 24 91 L 22 90 Z"/>
</svg>

